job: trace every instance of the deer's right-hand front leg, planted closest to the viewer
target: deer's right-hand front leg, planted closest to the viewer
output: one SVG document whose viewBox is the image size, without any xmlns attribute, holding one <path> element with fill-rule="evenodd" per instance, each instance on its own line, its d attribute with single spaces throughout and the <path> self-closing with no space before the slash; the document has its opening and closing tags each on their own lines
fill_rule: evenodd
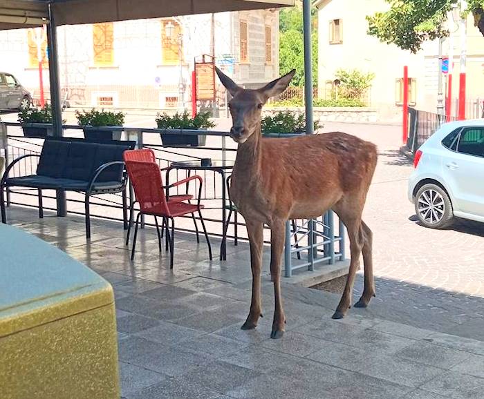
<svg viewBox="0 0 484 399">
<path fill-rule="evenodd" d="M 270 274 L 274 282 L 274 320 L 272 321 L 272 332 L 270 338 L 281 338 L 284 335 L 286 316 L 282 309 L 281 298 L 281 257 L 286 237 L 286 224 L 274 222 L 270 227 Z"/>
</svg>

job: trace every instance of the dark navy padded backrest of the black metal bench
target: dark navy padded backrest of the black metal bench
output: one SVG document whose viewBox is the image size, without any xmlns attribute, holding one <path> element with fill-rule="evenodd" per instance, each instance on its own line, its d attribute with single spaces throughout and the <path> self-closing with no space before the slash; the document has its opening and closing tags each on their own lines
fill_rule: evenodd
<svg viewBox="0 0 484 399">
<path fill-rule="evenodd" d="M 122 153 L 135 142 L 86 142 L 83 139 L 46 139 L 37 166 L 37 175 L 89 182 L 102 164 L 122 161 Z M 122 182 L 123 166 L 103 171 L 98 182 Z"/>
</svg>

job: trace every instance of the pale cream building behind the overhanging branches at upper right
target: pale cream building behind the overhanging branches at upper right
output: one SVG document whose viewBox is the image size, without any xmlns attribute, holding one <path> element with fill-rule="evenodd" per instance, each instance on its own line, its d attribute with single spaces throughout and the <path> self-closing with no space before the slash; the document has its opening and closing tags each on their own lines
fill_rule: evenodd
<svg viewBox="0 0 484 399">
<path fill-rule="evenodd" d="M 319 95 L 328 96 L 339 69 L 373 72 L 375 79 L 369 90 L 369 105 L 378 108 L 381 117 L 401 113 L 403 67 L 409 67 L 409 101 L 420 110 L 436 113 L 438 97 L 438 40 L 424 43 L 422 50 L 411 54 L 393 44 L 382 43 L 369 36 L 367 15 L 389 9 L 384 0 L 318 0 L 319 25 Z M 472 16 L 467 20 L 467 108 L 472 113 L 477 99 L 484 99 L 484 37 L 474 27 Z M 454 79 L 452 81 L 452 113 L 456 112 L 458 95 L 460 30 L 455 24 Z M 443 56 L 449 54 L 449 39 L 443 43 Z M 444 93 L 447 89 L 444 75 Z"/>
</svg>

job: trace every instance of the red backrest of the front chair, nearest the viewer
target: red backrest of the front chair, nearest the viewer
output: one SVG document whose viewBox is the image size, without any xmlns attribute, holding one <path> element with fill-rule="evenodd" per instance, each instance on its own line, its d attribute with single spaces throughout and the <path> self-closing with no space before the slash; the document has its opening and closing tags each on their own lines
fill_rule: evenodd
<svg viewBox="0 0 484 399">
<path fill-rule="evenodd" d="M 126 157 L 124 162 L 141 211 L 169 216 L 160 166 L 156 162 L 133 161 Z"/>
</svg>

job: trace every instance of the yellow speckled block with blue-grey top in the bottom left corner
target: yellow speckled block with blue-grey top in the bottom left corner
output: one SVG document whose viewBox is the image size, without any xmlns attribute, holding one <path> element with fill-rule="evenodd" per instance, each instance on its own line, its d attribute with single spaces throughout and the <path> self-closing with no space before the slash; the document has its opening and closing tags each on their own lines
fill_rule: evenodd
<svg viewBox="0 0 484 399">
<path fill-rule="evenodd" d="M 0 398 L 119 398 L 111 285 L 0 225 Z"/>
</svg>

